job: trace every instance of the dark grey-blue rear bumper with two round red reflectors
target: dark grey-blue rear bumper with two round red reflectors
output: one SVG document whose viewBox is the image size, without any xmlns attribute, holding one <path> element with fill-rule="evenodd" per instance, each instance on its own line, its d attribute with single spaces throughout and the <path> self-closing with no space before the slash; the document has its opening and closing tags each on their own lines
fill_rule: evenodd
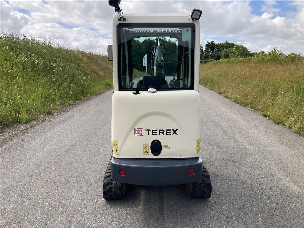
<svg viewBox="0 0 304 228">
<path fill-rule="evenodd" d="M 188 175 L 189 169 L 193 175 Z M 124 169 L 126 175 L 119 174 Z M 202 158 L 193 159 L 117 159 L 111 160 L 111 178 L 133 185 L 180 185 L 202 179 Z"/>
</svg>

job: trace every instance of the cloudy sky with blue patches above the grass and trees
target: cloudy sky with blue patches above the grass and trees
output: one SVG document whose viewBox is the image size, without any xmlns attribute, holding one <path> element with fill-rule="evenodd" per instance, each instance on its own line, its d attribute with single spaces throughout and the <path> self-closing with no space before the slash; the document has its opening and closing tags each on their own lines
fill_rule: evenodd
<svg viewBox="0 0 304 228">
<path fill-rule="evenodd" d="M 105 53 L 112 43 L 113 7 L 102 1 L 0 0 L 7 32 L 49 37 L 67 47 Z M 201 44 L 228 40 L 250 51 L 304 54 L 304 1 L 122 0 L 124 13 L 190 13 L 202 9 Z"/>
</svg>

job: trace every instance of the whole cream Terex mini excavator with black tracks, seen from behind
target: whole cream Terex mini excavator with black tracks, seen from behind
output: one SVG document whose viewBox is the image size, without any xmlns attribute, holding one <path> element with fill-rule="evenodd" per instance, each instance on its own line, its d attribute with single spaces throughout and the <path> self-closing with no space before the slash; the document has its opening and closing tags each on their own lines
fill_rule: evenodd
<svg viewBox="0 0 304 228">
<path fill-rule="evenodd" d="M 211 181 L 200 157 L 199 17 L 121 14 L 112 21 L 112 152 L 105 199 L 120 199 L 127 184 L 187 184 L 208 198 Z M 193 19 L 193 17 L 195 19 Z"/>
</svg>

